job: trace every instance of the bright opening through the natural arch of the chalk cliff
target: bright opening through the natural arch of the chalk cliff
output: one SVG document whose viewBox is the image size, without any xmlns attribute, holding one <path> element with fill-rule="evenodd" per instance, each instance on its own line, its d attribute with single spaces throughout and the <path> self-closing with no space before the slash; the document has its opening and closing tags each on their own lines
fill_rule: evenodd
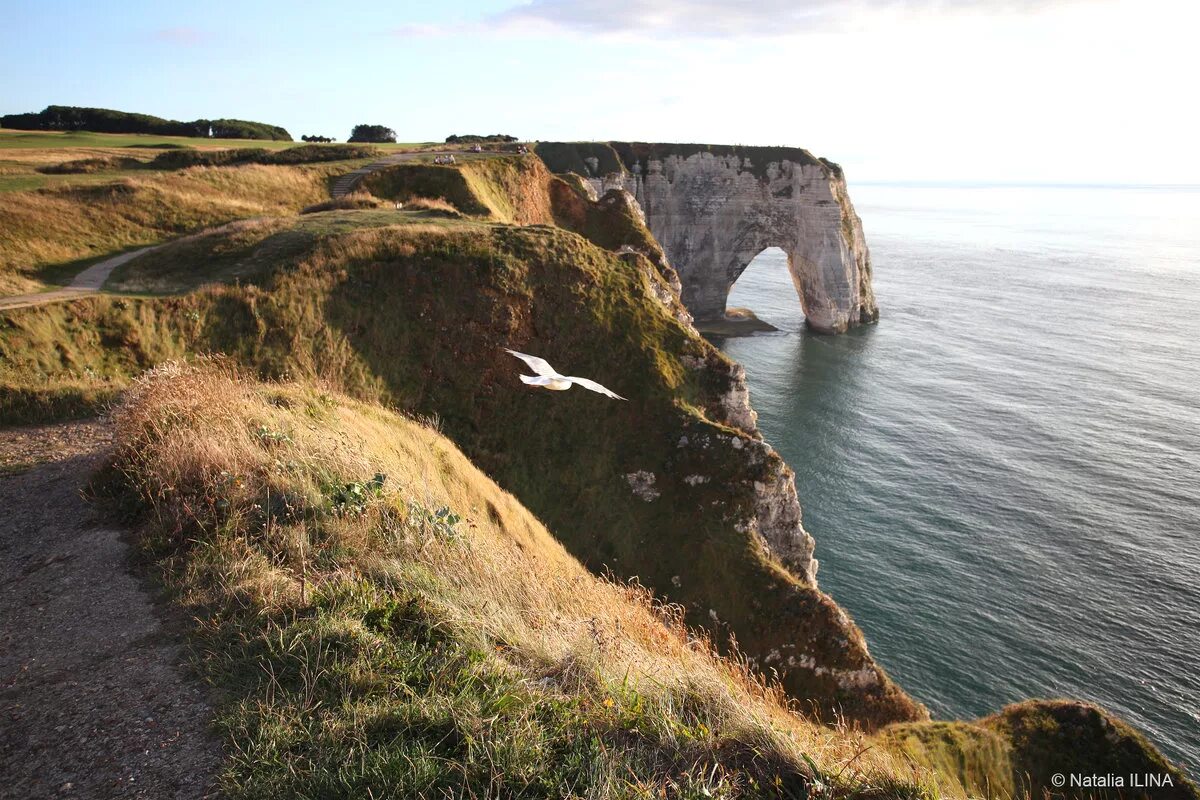
<svg viewBox="0 0 1200 800">
<path fill-rule="evenodd" d="M 766 247 L 750 259 L 728 288 L 724 320 L 740 332 L 800 330 L 804 300 L 797 297 L 787 253 Z"/>
</svg>

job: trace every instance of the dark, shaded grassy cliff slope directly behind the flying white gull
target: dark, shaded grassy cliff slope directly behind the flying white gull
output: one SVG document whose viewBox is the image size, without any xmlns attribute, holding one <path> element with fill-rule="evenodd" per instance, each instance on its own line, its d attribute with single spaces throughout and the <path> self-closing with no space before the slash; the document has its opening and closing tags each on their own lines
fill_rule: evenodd
<svg viewBox="0 0 1200 800">
<path fill-rule="evenodd" d="M 101 391 L 164 359 L 217 351 L 266 377 L 330 380 L 437 416 L 578 558 L 640 576 L 719 643 L 736 636 L 817 712 L 868 726 L 919 716 L 841 609 L 763 547 L 760 491 L 787 468 L 730 420 L 733 366 L 678 321 L 646 257 L 551 225 L 382 211 L 304 224 L 322 219 L 317 235 L 214 242 L 229 249 L 223 264 L 238 252 L 256 261 L 241 285 L 7 314 L 12 403 L 36 405 L 54 383 Z M 504 348 L 631 402 L 530 392 Z"/>
</svg>

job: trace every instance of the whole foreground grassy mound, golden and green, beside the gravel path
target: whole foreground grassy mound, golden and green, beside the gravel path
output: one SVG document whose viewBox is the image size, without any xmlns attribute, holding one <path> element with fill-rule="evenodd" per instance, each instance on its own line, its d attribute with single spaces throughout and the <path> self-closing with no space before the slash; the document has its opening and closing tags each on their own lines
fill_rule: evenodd
<svg viewBox="0 0 1200 800">
<path fill-rule="evenodd" d="M 197 620 L 233 796 L 922 795 L 430 427 L 220 362 L 157 368 L 114 421 L 98 487 Z"/>
</svg>

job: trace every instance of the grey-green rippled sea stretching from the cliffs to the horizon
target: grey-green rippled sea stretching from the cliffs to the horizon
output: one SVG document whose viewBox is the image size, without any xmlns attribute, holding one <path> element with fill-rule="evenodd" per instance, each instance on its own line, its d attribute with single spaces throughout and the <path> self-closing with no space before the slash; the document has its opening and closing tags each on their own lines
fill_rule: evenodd
<svg viewBox="0 0 1200 800">
<path fill-rule="evenodd" d="M 718 342 L 821 587 L 936 717 L 1092 700 L 1200 774 L 1200 187 L 854 186 L 878 325 L 806 333 L 779 251 Z"/>
</svg>

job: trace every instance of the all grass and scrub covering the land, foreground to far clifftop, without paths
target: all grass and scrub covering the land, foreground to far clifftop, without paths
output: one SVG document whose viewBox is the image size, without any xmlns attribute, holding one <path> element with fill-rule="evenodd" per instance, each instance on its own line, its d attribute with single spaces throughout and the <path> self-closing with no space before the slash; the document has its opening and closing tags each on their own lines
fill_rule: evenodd
<svg viewBox="0 0 1200 800">
<path fill-rule="evenodd" d="M 6 294 L 166 242 L 0 315 L 0 425 L 113 409 L 92 493 L 193 620 L 228 794 L 1200 796 L 1099 709 L 930 722 L 875 666 L 751 525 L 790 473 L 628 196 L 487 156 L 331 200 L 364 149 L 288 152 L 0 194 Z"/>
</svg>

